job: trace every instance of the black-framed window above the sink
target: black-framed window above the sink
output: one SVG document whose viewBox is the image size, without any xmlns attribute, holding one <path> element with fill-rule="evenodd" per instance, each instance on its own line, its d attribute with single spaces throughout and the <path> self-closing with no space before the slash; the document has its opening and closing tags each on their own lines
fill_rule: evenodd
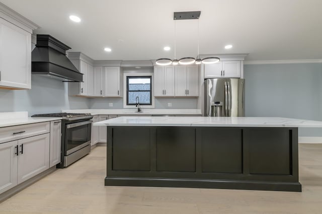
<svg viewBox="0 0 322 214">
<path fill-rule="evenodd" d="M 126 105 L 135 105 L 136 97 L 140 105 L 152 105 L 151 76 L 126 77 Z"/>
</svg>

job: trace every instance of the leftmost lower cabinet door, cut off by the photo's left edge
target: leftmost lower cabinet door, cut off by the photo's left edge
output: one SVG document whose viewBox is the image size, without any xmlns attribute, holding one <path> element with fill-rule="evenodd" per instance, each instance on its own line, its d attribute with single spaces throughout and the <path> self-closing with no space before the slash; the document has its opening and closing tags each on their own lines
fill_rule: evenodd
<svg viewBox="0 0 322 214">
<path fill-rule="evenodd" d="M 18 141 L 0 144 L 0 193 L 17 185 Z"/>
</svg>

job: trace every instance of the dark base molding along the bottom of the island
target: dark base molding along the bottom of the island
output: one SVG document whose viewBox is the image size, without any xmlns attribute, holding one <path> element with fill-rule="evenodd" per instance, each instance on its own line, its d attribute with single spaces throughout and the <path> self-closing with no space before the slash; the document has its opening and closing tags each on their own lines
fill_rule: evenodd
<svg viewBox="0 0 322 214">
<path fill-rule="evenodd" d="M 151 186 L 185 187 L 215 189 L 247 189 L 271 191 L 301 191 L 299 182 L 258 182 L 243 180 L 202 180 L 202 179 L 165 179 L 165 178 L 128 178 L 106 177 L 106 186 Z"/>
</svg>

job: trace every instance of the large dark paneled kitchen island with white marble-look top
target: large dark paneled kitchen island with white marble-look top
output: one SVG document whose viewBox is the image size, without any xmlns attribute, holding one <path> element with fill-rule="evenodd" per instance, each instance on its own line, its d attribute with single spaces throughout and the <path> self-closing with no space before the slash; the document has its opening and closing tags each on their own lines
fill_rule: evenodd
<svg viewBox="0 0 322 214">
<path fill-rule="evenodd" d="M 301 191 L 298 127 L 278 117 L 118 117 L 107 128 L 105 185 Z"/>
</svg>

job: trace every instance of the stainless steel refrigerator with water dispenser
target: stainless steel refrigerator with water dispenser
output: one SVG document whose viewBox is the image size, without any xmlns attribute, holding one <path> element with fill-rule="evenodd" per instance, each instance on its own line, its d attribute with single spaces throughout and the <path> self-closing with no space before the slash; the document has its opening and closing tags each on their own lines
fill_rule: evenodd
<svg viewBox="0 0 322 214">
<path fill-rule="evenodd" d="M 244 117 L 245 79 L 206 79 L 204 115 L 209 117 Z"/>
</svg>

